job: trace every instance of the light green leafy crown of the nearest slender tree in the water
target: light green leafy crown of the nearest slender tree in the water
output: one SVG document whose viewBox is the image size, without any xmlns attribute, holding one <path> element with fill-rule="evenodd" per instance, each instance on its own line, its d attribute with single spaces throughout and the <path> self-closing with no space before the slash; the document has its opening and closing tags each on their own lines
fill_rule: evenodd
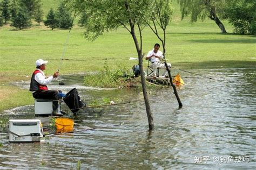
<svg viewBox="0 0 256 170">
<path fill-rule="evenodd" d="M 87 16 L 85 27 L 85 38 L 95 40 L 104 32 L 116 30 L 125 26 L 131 33 L 134 25 L 143 25 L 152 12 L 152 1 L 65 1 L 71 9 L 76 9 L 83 16 Z M 127 3 L 126 3 L 127 2 Z M 129 6 L 129 10 L 126 9 Z M 129 21 L 130 19 L 130 21 Z M 129 29 L 130 23 L 132 28 Z"/>
</svg>

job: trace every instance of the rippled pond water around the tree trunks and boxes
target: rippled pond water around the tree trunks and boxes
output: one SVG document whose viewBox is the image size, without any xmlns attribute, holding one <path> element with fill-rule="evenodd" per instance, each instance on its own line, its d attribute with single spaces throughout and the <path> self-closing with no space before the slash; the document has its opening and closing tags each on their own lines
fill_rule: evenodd
<svg viewBox="0 0 256 170">
<path fill-rule="evenodd" d="M 184 78 L 186 86 L 178 90 L 182 109 L 171 88 L 148 90 L 154 114 L 152 132 L 140 90 L 85 88 L 66 80 L 77 81 L 80 76 L 64 76 L 67 86 L 62 90 L 81 87 L 78 91 L 85 101 L 111 97 L 115 102 L 132 102 L 106 107 L 103 113 L 80 112 L 75 129 L 96 130 L 53 136 L 43 143 L 12 144 L 6 132 L 0 131 L 0 168 L 76 169 L 80 160 L 83 169 L 255 169 L 256 69 L 191 71 L 214 80 Z M 183 76 L 193 75 L 181 72 Z M 4 114 L 33 118 L 33 106 Z"/>
</svg>

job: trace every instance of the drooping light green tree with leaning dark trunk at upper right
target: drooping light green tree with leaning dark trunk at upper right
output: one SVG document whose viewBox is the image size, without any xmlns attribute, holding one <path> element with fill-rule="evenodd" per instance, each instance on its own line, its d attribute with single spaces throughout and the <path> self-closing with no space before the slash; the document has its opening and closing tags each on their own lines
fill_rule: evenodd
<svg viewBox="0 0 256 170">
<path fill-rule="evenodd" d="M 191 16 L 191 22 L 197 22 L 200 18 L 204 20 L 206 17 L 214 20 L 219 26 L 221 33 L 227 33 L 225 26 L 221 23 L 217 13 L 223 11 L 225 1 L 222 0 L 179 0 L 181 19 Z"/>
</svg>

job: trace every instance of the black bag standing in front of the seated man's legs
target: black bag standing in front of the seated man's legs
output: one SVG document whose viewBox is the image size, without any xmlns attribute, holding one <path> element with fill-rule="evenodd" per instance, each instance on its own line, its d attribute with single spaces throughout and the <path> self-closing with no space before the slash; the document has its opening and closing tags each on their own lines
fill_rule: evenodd
<svg viewBox="0 0 256 170">
<path fill-rule="evenodd" d="M 86 103 L 84 103 L 78 96 L 76 88 L 70 90 L 69 93 L 67 93 L 66 96 L 63 98 L 63 100 L 75 115 L 77 114 L 78 110 L 80 110 L 83 107 L 86 107 Z"/>
</svg>

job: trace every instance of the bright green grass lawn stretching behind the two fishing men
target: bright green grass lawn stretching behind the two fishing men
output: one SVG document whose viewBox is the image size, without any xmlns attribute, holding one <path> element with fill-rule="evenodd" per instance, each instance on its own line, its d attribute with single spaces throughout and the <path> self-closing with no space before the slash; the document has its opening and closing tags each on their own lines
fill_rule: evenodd
<svg viewBox="0 0 256 170">
<path fill-rule="evenodd" d="M 56 8 L 59 1 L 42 2 L 44 11 L 48 11 L 51 2 Z M 256 57 L 255 36 L 232 34 L 233 29 L 227 21 L 223 23 L 228 34 L 219 33 L 218 26 L 211 20 L 194 24 L 189 23 L 188 19 L 180 21 L 178 5 L 175 4 L 174 8 L 176 13 L 167 27 L 166 39 L 167 62 L 171 62 L 174 67 L 218 68 L 256 65 L 256 60 L 253 59 Z M 45 74 L 53 74 L 59 68 L 68 32 L 51 31 L 45 26 L 36 25 L 22 31 L 14 31 L 14 27 L 9 25 L 0 27 L 0 87 L 2 91 L 14 92 L 10 97 L 0 97 L 0 110 L 32 103 L 28 90 L 10 87 L 9 83 L 29 80 L 35 69 L 35 61 L 40 58 L 49 60 Z M 156 42 L 159 40 L 145 27 L 143 52 L 147 54 Z M 117 68 L 117 63 L 132 68 L 138 60 L 129 60 L 130 57 L 137 58 L 137 52 L 129 32 L 124 28 L 107 32 L 90 42 L 84 39 L 83 28 L 76 25 L 71 30 L 64 56 L 66 60 L 60 67 L 60 74 L 97 72 L 103 68 L 105 62 L 110 69 Z M 146 65 L 144 62 L 144 68 Z M 22 100 L 19 97 L 22 97 Z"/>
</svg>

